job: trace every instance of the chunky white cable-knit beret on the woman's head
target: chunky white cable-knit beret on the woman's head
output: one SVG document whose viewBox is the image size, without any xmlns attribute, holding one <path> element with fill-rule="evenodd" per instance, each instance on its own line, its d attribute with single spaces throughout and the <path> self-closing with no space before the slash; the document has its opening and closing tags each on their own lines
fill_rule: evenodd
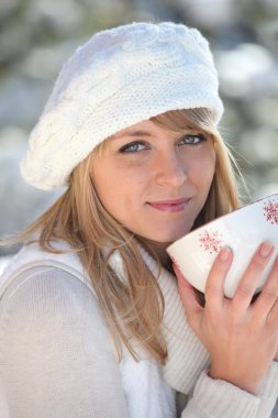
<svg viewBox="0 0 278 418">
<path fill-rule="evenodd" d="M 175 109 L 223 113 L 207 40 L 175 23 L 132 23 L 97 33 L 63 66 L 31 133 L 21 172 L 42 189 L 65 186 L 104 139 Z"/>
</svg>

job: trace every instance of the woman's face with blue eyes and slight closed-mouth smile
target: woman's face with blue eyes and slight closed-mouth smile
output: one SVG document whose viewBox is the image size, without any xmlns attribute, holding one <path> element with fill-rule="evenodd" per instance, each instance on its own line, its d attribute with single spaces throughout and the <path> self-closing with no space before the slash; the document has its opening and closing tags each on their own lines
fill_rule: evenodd
<svg viewBox="0 0 278 418">
<path fill-rule="evenodd" d="M 198 131 L 174 138 L 152 121 L 116 133 L 93 158 L 96 190 L 124 227 L 165 248 L 188 233 L 214 175 L 213 140 Z"/>
</svg>

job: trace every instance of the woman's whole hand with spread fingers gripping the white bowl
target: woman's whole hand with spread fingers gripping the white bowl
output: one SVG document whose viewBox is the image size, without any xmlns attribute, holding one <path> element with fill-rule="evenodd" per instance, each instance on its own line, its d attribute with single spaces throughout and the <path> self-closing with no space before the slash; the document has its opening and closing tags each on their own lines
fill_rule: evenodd
<svg viewBox="0 0 278 418">
<path fill-rule="evenodd" d="M 223 295 L 232 251 L 222 249 L 209 274 L 205 306 L 174 265 L 189 324 L 211 355 L 210 376 L 256 394 L 278 346 L 278 257 L 265 286 L 251 304 L 274 248 L 263 243 L 243 275 L 233 299 Z"/>
</svg>

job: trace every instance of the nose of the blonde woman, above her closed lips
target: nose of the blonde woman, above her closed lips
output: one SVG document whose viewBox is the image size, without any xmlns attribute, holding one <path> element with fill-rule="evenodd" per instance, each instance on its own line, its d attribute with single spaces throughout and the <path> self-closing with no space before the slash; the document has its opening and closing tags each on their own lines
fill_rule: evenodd
<svg viewBox="0 0 278 418">
<path fill-rule="evenodd" d="M 156 180 L 159 185 L 180 187 L 187 180 L 186 162 L 177 153 L 165 153 L 157 161 Z"/>
</svg>

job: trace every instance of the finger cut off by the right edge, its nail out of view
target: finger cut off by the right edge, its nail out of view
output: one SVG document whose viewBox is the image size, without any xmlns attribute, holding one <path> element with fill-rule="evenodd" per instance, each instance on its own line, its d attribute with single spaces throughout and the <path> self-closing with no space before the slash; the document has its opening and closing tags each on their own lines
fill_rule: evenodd
<svg viewBox="0 0 278 418">
<path fill-rule="evenodd" d="M 274 323 L 278 329 L 278 256 L 276 257 L 265 286 L 254 304 L 254 315 L 258 320 Z"/>
</svg>

